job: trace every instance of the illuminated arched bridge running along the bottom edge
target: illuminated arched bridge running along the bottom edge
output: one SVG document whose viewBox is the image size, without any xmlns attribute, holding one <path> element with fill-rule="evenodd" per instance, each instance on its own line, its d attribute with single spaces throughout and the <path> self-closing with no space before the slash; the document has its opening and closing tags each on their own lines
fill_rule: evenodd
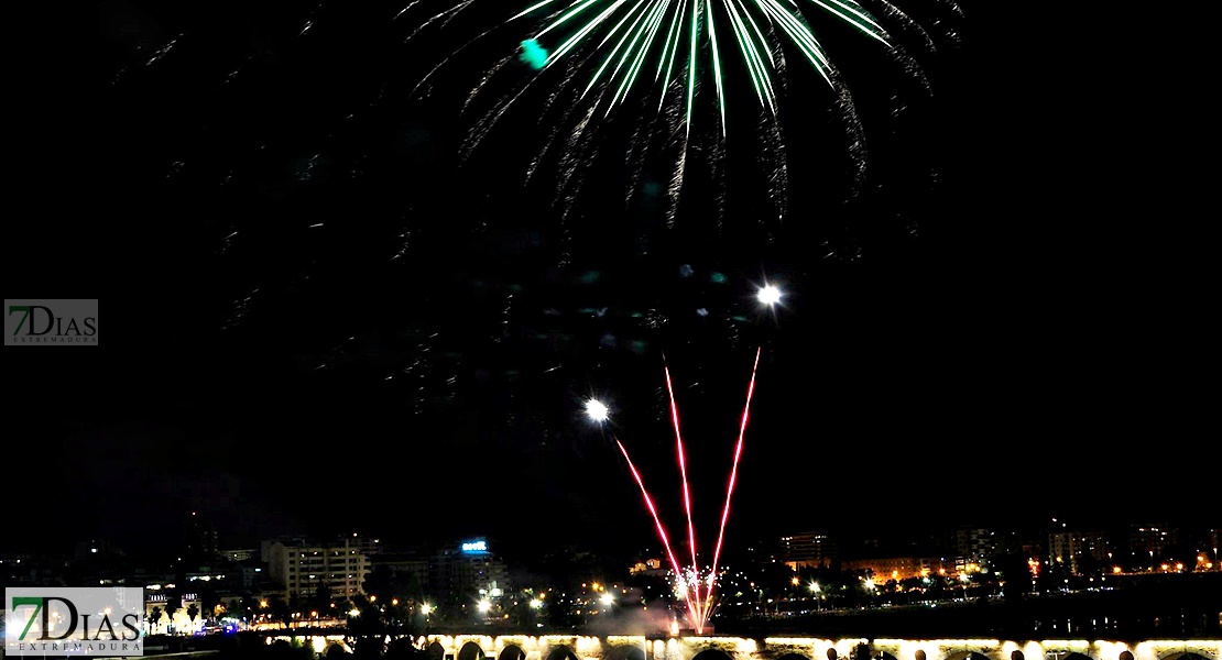
<svg viewBox="0 0 1222 660">
<path fill-rule="evenodd" d="M 313 637 L 320 653 L 341 636 Z M 820 639 L 430 634 L 430 660 L 1222 660 L 1222 639 Z"/>
</svg>

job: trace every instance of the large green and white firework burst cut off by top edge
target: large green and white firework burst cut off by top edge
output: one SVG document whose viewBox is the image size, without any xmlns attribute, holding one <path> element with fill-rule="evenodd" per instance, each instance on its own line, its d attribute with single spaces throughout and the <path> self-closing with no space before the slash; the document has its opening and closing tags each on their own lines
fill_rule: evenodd
<svg viewBox="0 0 1222 660">
<path fill-rule="evenodd" d="M 428 9 L 436 4 L 444 7 Z M 943 30 L 940 38 L 887 0 L 539 0 L 503 18 L 496 17 L 496 5 L 485 7 L 480 0 L 414 0 L 401 15 L 414 16 L 418 24 L 408 39 L 426 28 L 470 26 L 464 38 L 441 39 L 456 48 L 445 51 L 415 85 L 422 94 L 431 93 L 451 65 L 484 59 L 479 72 L 457 77 L 469 82 L 459 91 L 461 112 L 477 117 L 464 137 L 463 159 L 488 140 L 494 127 L 521 117 L 513 134 L 530 142 L 516 148 L 533 152 L 525 178 L 550 171 L 555 201 L 566 215 L 585 183 L 596 179 L 590 176 L 594 163 L 618 159 L 628 168 L 624 201 L 665 199 L 660 204 L 670 226 L 698 163 L 708 167 L 701 177 L 711 177 L 708 183 L 719 190 L 711 200 L 719 216 L 726 207 L 725 179 L 737 177 L 748 179 L 744 185 L 765 189 L 775 215 L 761 216 L 783 217 L 796 163 L 826 167 L 829 177 L 846 179 L 826 181 L 825 188 L 846 184 L 851 196 L 860 192 L 864 123 L 849 93 L 849 77 L 833 65 L 825 44 L 853 45 L 871 62 L 890 61 L 886 72 L 863 70 L 859 79 L 899 85 L 886 95 L 904 106 L 914 90 L 930 95 L 930 83 L 910 52 L 929 54 L 940 41 L 957 40 L 954 28 L 943 26 L 953 24 L 945 18 L 962 17 L 962 11 L 953 0 L 937 0 L 935 6 L 929 11 L 937 15 L 932 23 Z M 464 23 L 466 17 L 470 20 Z M 797 76 L 799 68 L 813 73 Z M 815 87 L 826 93 L 808 91 Z M 819 149 L 796 150 L 791 135 L 810 135 L 809 122 L 793 131 L 787 126 L 819 110 L 794 109 L 782 122 L 782 105 L 799 98 L 838 115 L 838 126 L 831 129 L 841 134 L 820 135 Z M 524 106 L 521 112 L 514 111 L 519 106 Z M 617 110 L 624 112 L 622 121 L 611 117 Z M 876 121 L 898 113 L 893 107 Z M 528 138 L 521 128 L 541 134 Z M 731 144 L 736 131 L 744 138 Z M 813 155 L 840 160 L 826 150 L 827 139 L 843 144 L 841 156 L 849 159 L 848 166 L 808 162 Z M 743 154 L 738 159 L 749 167 L 727 174 L 731 151 Z M 505 160 L 497 156 L 496 162 Z"/>
</svg>

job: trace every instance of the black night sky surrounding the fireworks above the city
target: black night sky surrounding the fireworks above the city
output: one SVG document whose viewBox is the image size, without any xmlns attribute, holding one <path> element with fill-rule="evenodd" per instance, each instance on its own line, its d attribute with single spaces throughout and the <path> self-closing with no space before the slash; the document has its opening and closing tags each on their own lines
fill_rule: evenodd
<svg viewBox="0 0 1222 660">
<path fill-rule="evenodd" d="M 225 545 L 654 545 L 612 437 L 676 506 L 664 364 L 709 536 L 756 348 L 730 543 L 1217 515 L 1194 165 L 1213 160 L 1177 100 L 1199 81 L 1154 45 L 1169 38 L 1132 60 L 1114 16 L 913 2 L 938 46 L 915 51 L 929 98 L 830 35 L 864 183 L 791 62 L 783 222 L 749 113 L 721 183 L 693 166 L 675 218 L 657 195 L 624 204 L 610 156 L 566 215 L 562 166 L 522 183 L 551 115 L 511 115 L 458 159 L 463 90 L 513 41 L 413 98 L 474 28 L 404 43 L 403 4 L 108 1 L 13 23 L 5 296 L 108 312 L 98 348 L 4 349 L 6 501 L 44 508 L 22 536 L 138 545 L 196 510 Z M 633 127 L 607 120 L 604 150 Z M 772 311 L 765 281 L 786 292 Z"/>
</svg>

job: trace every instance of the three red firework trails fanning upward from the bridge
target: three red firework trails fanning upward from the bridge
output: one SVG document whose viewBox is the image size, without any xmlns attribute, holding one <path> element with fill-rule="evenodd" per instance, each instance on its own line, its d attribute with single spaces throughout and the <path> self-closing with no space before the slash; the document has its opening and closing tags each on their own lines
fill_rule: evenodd
<svg viewBox="0 0 1222 660">
<path fill-rule="evenodd" d="M 628 464 L 628 470 L 632 473 L 633 479 L 640 488 L 640 495 L 645 501 L 645 508 L 649 510 L 649 515 L 653 517 L 654 525 L 657 528 L 657 536 L 662 542 L 662 548 L 666 550 L 666 558 L 671 562 L 671 570 L 675 572 L 676 592 L 678 592 L 679 595 L 682 595 L 683 600 L 687 603 L 688 622 L 692 625 L 692 628 L 695 630 L 698 634 L 701 633 L 704 631 L 704 627 L 708 625 L 709 617 L 711 616 L 716 604 L 714 598 L 714 592 L 717 586 L 717 561 L 721 558 L 722 542 L 725 540 L 725 534 L 726 534 L 726 523 L 730 520 L 730 503 L 734 494 L 734 483 L 738 477 L 738 464 L 743 455 L 743 439 L 747 433 L 747 421 L 749 418 L 752 407 L 752 395 L 755 392 L 755 372 L 759 368 L 760 353 L 761 349 L 755 350 L 755 362 L 752 365 L 752 378 L 749 384 L 747 386 L 747 404 L 743 406 L 742 423 L 739 425 L 738 428 L 738 442 L 734 445 L 733 464 L 730 471 L 730 481 L 726 486 L 726 503 L 721 511 L 721 525 L 717 529 L 717 543 L 714 547 L 711 569 L 706 573 L 703 573 L 700 571 L 700 565 L 697 556 L 695 528 L 692 523 L 692 494 L 690 489 L 688 488 L 688 479 L 687 479 L 687 455 L 683 449 L 683 436 L 679 432 L 678 406 L 675 403 L 675 390 L 671 386 L 671 375 L 668 367 L 664 367 L 664 371 L 666 375 L 666 389 L 670 393 L 671 422 L 675 428 L 675 439 L 677 447 L 676 453 L 679 465 L 679 475 L 683 481 L 683 509 L 687 514 L 688 544 L 692 550 L 690 566 L 683 567 L 679 564 L 678 559 L 675 556 L 675 551 L 671 548 L 670 534 L 666 532 L 666 526 L 662 523 L 662 520 L 657 514 L 657 508 L 654 505 L 653 497 L 650 497 L 649 490 L 645 488 L 645 482 L 644 479 L 642 479 L 640 472 L 637 470 L 637 466 L 633 465 L 632 457 L 628 456 L 628 449 L 624 448 L 620 438 L 615 438 L 616 445 L 618 445 L 620 451 L 623 454 L 624 461 Z M 604 411 L 604 415 L 600 417 L 600 420 L 605 418 L 605 406 L 599 404 L 598 406 L 594 407 Z M 701 586 L 704 586 L 703 598 L 701 598 Z"/>
</svg>

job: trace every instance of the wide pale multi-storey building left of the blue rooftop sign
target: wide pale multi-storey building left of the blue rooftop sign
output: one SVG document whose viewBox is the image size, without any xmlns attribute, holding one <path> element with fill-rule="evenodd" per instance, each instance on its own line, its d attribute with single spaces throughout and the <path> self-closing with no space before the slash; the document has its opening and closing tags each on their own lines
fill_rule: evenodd
<svg viewBox="0 0 1222 660">
<path fill-rule="evenodd" d="M 263 560 L 271 579 L 284 584 L 290 598 L 310 598 L 325 586 L 332 597 L 351 598 L 364 593 L 369 558 L 359 539 L 318 542 L 285 538 L 263 544 Z"/>
</svg>

